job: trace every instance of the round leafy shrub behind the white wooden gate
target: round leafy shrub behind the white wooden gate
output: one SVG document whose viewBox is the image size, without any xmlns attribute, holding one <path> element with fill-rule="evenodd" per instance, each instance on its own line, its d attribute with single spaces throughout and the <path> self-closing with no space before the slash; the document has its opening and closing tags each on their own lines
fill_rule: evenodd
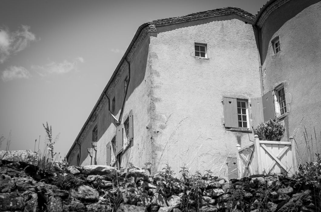
<svg viewBox="0 0 321 212">
<path fill-rule="evenodd" d="M 260 123 L 254 130 L 254 134 L 259 136 L 260 140 L 274 140 L 280 141 L 283 137 L 285 128 L 281 122 L 278 120 L 267 121 L 265 123 Z"/>
</svg>

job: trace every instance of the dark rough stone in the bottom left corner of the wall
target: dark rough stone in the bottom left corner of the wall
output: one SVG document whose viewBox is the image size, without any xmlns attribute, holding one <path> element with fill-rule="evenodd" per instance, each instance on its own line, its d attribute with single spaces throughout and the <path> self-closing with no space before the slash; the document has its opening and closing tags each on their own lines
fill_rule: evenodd
<svg viewBox="0 0 321 212">
<path fill-rule="evenodd" d="M 18 196 L 17 192 L 1 193 L 0 194 L 0 208 L 1 210 L 22 210 L 24 200 Z"/>
</svg>

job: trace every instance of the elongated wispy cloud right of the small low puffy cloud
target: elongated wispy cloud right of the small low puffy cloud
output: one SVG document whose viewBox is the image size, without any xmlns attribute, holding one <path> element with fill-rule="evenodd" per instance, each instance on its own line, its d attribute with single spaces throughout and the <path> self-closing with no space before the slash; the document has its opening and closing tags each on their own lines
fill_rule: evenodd
<svg viewBox="0 0 321 212">
<path fill-rule="evenodd" d="M 31 69 L 36 70 L 39 75 L 44 76 L 47 73 L 57 73 L 57 74 L 64 74 L 71 71 L 78 71 L 77 64 L 78 62 L 83 63 L 84 59 L 82 57 L 75 58 L 72 62 L 64 60 L 61 63 L 57 62 L 50 62 L 46 65 L 32 65 Z"/>
</svg>

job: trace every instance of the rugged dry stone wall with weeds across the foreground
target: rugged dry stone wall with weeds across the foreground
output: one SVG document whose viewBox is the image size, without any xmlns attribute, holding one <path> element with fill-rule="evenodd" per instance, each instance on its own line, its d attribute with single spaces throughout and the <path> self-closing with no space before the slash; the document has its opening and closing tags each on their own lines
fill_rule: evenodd
<svg viewBox="0 0 321 212">
<path fill-rule="evenodd" d="M 7 158 L 10 159 L 10 158 Z M 256 175 L 241 179 L 170 170 L 68 166 L 52 172 L 23 161 L 1 160 L 0 211 L 320 211 L 321 177 Z"/>
</svg>

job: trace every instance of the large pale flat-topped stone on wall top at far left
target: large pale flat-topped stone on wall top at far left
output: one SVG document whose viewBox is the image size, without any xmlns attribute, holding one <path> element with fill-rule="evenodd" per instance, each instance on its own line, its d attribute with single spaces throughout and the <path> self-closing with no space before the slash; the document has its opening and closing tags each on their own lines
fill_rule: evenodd
<svg viewBox="0 0 321 212">
<path fill-rule="evenodd" d="M 7 161 L 21 161 L 32 165 L 38 165 L 38 154 L 31 150 L 0 151 L 0 158 Z"/>
</svg>

